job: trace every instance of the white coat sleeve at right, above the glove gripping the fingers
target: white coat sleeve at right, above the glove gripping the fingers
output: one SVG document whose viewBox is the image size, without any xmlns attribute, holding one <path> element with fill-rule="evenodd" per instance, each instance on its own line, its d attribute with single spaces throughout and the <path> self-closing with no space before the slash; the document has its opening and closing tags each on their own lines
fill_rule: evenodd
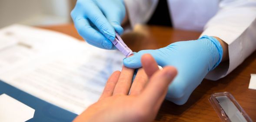
<svg viewBox="0 0 256 122">
<path fill-rule="evenodd" d="M 229 64 L 220 63 L 206 79 L 217 80 L 235 69 L 256 49 L 256 0 L 223 0 L 201 36 L 216 36 L 228 44 Z"/>
</svg>

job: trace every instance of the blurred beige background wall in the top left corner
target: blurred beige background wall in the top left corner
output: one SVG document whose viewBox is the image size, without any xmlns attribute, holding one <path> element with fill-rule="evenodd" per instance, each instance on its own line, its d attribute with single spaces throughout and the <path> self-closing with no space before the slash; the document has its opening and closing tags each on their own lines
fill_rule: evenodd
<svg viewBox="0 0 256 122">
<path fill-rule="evenodd" d="M 0 27 L 13 23 L 44 26 L 71 23 L 76 0 L 0 0 Z"/>
</svg>

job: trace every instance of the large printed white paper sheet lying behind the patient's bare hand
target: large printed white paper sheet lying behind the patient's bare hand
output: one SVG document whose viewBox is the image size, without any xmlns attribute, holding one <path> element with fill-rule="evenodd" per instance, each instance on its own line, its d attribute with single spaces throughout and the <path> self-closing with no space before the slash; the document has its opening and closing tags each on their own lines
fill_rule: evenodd
<svg viewBox="0 0 256 122">
<path fill-rule="evenodd" d="M 76 114 L 97 101 L 124 58 L 117 50 L 22 25 L 1 29 L 0 45 L 0 79 Z"/>
</svg>

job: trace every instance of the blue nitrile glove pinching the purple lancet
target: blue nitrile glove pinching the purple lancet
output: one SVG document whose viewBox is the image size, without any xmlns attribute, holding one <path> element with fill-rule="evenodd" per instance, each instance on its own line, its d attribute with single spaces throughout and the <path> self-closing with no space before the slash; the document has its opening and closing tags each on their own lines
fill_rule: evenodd
<svg viewBox="0 0 256 122">
<path fill-rule="evenodd" d="M 77 0 L 71 12 L 76 30 L 88 43 L 103 49 L 115 49 L 111 43 L 125 16 L 123 0 Z"/>
</svg>

